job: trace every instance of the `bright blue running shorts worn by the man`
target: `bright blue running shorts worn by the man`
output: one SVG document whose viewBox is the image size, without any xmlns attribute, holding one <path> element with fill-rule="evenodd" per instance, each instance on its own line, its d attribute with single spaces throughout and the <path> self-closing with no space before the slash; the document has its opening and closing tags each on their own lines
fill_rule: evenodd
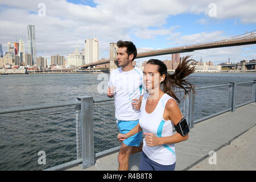
<svg viewBox="0 0 256 182">
<path fill-rule="evenodd" d="M 128 133 L 131 129 L 133 129 L 139 123 L 139 119 L 134 121 L 122 121 L 122 120 L 116 119 L 116 121 L 117 121 L 119 132 L 121 134 Z M 123 143 L 125 143 L 127 146 L 139 147 L 141 145 L 141 140 L 142 140 L 142 131 L 123 140 Z"/>
</svg>

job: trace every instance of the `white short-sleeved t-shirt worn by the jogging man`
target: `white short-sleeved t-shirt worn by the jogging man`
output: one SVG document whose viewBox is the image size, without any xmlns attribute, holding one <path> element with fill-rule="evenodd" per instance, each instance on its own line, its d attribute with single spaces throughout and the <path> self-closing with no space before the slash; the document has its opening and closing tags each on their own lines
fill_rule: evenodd
<svg viewBox="0 0 256 182">
<path fill-rule="evenodd" d="M 138 67 L 123 72 L 121 67 L 114 69 L 109 76 L 109 87 L 115 87 L 115 118 L 123 121 L 139 119 L 140 111 L 136 111 L 131 102 L 143 95 L 143 73 Z"/>
</svg>

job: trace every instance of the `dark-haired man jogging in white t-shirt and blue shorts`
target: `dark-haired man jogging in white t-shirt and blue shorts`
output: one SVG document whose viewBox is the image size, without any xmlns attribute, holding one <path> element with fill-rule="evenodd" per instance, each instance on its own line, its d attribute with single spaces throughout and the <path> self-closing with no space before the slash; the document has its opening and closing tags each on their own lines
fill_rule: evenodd
<svg viewBox="0 0 256 182">
<path fill-rule="evenodd" d="M 137 48 L 132 42 L 119 40 L 117 42 L 117 60 L 119 68 L 110 73 L 108 82 L 108 97 L 114 97 L 115 118 L 120 133 L 128 133 L 138 125 L 143 94 L 141 69 L 133 67 L 137 56 Z M 123 140 L 118 155 L 119 170 L 129 169 L 130 154 L 142 151 L 142 132 Z"/>
</svg>

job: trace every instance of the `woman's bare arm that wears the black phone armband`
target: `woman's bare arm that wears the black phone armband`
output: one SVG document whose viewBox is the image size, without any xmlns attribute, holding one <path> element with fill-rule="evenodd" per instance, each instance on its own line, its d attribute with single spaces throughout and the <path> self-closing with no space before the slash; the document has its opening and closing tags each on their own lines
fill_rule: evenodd
<svg viewBox="0 0 256 182">
<path fill-rule="evenodd" d="M 183 118 L 180 112 L 180 108 L 177 105 L 176 101 L 170 99 L 167 101 L 166 109 L 168 111 L 168 117 L 176 126 L 177 123 Z M 144 133 L 145 140 L 148 146 L 154 147 L 161 144 L 170 144 L 170 143 L 178 143 L 188 139 L 188 135 L 185 137 L 181 136 L 179 133 L 172 135 L 170 137 L 156 137 L 154 134 L 151 133 Z"/>
</svg>

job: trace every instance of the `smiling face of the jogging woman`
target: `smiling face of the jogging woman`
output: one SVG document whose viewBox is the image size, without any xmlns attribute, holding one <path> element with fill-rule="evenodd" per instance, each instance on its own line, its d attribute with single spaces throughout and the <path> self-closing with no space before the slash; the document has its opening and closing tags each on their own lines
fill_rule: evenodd
<svg viewBox="0 0 256 182">
<path fill-rule="evenodd" d="M 152 90 L 160 85 L 162 76 L 158 72 L 158 65 L 146 64 L 143 70 L 143 83 L 147 90 Z"/>
</svg>

